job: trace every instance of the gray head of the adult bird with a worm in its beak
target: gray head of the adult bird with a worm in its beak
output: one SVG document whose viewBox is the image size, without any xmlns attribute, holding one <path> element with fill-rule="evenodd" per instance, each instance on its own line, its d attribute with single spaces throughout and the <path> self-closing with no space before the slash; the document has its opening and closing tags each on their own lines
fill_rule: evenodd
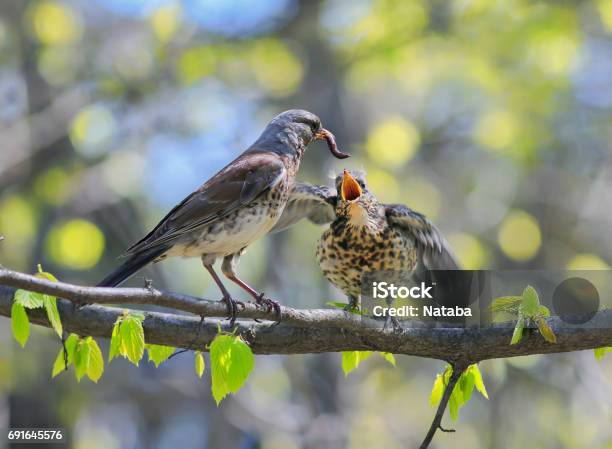
<svg viewBox="0 0 612 449">
<path fill-rule="evenodd" d="M 303 109 L 290 109 L 274 117 L 251 149 L 301 157 L 313 140 L 325 140 L 338 159 L 349 157 L 338 150 L 334 135 L 323 128 L 321 119 Z"/>
</svg>

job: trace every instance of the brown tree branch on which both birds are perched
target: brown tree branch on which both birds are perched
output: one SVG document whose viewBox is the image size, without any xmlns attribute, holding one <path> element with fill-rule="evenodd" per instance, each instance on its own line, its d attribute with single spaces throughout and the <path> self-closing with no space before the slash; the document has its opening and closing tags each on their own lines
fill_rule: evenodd
<svg viewBox="0 0 612 449">
<path fill-rule="evenodd" d="M 4 287 L 2 287 L 4 286 Z M 51 282 L 34 276 L 0 268 L 0 315 L 9 316 L 15 288 L 47 293 L 73 302 L 99 304 L 151 304 L 207 317 L 200 319 L 177 313 L 145 312 L 144 329 L 150 343 L 186 349 L 204 350 L 217 334 L 217 325 L 230 330 L 220 320 L 225 305 L 217 301 L 161 292 L 147 288 L 96 288 L 62 282 Z M 121 309 L 91 305 L 75 309 L 68 301 L 59 301 L 64 327 L 80 335 L 110 337 Z M 43 313 L 28 311 L 36 324 L 48 326 Z M 612 345 L 612 310 L 598 312 L 589 326 L 571 326 L 550 318 L 549 324 L 557 343 L 547 343 L 538 333 L 527 332 L 520 344 L 509 345 L 513 325 L 440 328 L 410 322 L 400 331 L 383 330 L 383 322 L 341 310 L 282 308 L 280 325 L 257 323 L 253 319 L 274 320 L 255 304 L 247 303 L 239 313 L 237 332 L 258 354 L 304 354 L 318 352 L 374 350 L 445 360 L 452 364 L 476 363 L 492 358 L 530 354 L 569 352 Z M 243 320 L 247 319 L 247 320 Z M 194 336 L 198 338 L 194 341 Z"/>
</svg>

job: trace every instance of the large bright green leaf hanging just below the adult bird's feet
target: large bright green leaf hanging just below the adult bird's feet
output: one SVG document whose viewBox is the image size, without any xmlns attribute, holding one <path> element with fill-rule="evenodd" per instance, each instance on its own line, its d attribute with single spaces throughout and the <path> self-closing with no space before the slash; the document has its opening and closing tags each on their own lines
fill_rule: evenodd
<svg viewBox="0 0 612 449">
<path fill-rule="evenodd" d="M 212 394 L 217 405 L 229 393 L 236 393 L 255 365 L 251 348 L 235 335 L 219 334 L 210 345 Z"/>
</svg>

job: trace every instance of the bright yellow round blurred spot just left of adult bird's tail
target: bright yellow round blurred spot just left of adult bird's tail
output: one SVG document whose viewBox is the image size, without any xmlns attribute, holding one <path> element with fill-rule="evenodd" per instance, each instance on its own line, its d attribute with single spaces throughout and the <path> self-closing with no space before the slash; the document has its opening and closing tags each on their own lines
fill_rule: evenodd
<svg viewBox="0 0 612 449">
<path fill-rule="evenodd" d="M 104 234 L 93 223 L 75 219 L 54 226 L 46 247 L 51 259 L 73 270 L 94 267 L 104 252 Z"/>
</svg>

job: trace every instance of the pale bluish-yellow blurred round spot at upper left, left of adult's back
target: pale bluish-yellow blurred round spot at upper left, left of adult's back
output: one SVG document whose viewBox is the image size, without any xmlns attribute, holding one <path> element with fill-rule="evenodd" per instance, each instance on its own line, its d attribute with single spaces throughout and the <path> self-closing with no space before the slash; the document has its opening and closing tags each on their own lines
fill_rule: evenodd
<svg viewBox="0 0 612 449">
<path fill-rule="evenodd" d="M 106 150 L 105 144 L 115 132 L 112 112 L 103 105 L 87 106 L 76 115 L 70 128 L 70 140 L 77 150 L 96 156 Z"/>
</svg>

